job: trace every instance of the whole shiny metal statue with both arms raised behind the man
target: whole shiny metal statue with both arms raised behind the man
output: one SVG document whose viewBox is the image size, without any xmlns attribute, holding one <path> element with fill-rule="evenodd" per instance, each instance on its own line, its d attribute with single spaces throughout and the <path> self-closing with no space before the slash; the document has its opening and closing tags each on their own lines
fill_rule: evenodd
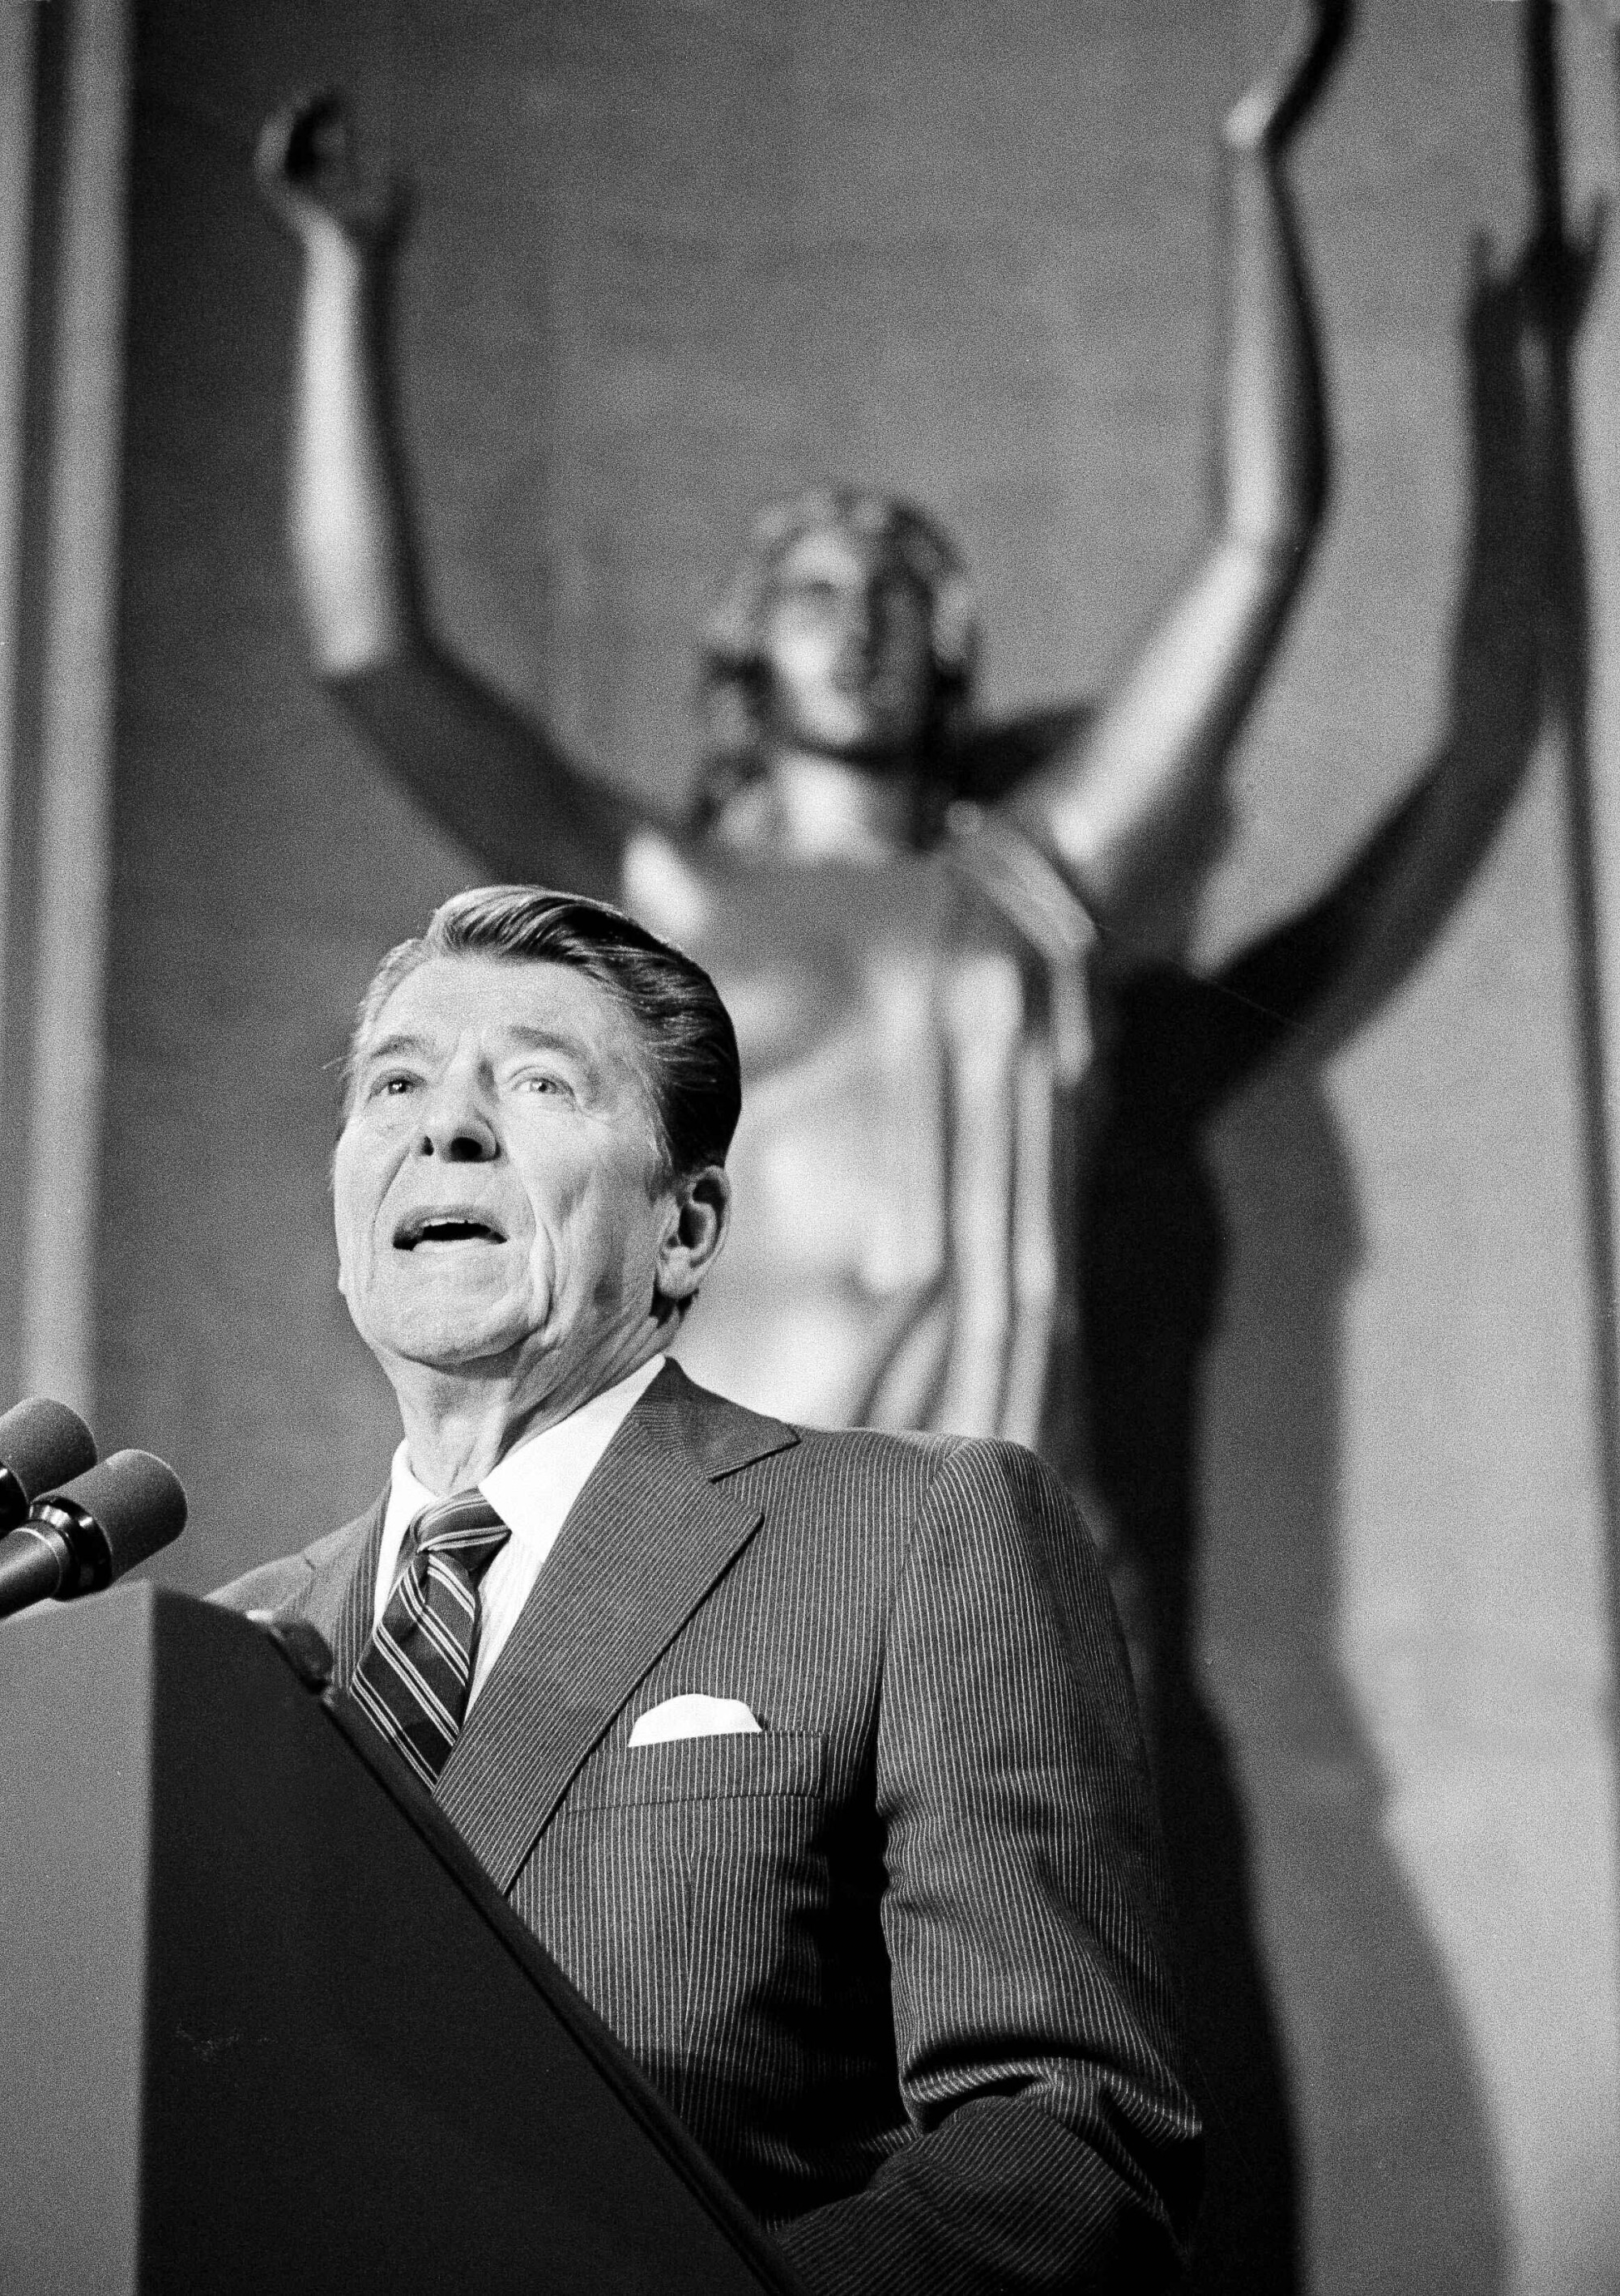
<svg viewBox="0 0 1620 2296">
<path fill-rule="evenodd" d="M 747 1075 L 745 1212 L 680 1352 L 742 1401 L 1085 1467 L 1087 962 L 1098 932 L 1142 960 L 1177 946 L 1321 521 L 1282 165 L 1347 21 L 1347 0 L 1301 7 L 1225 122 L 1213 521 L 1114 689 L 997 788 L 1009 744 L 997 767 L 970 723 L 951 544 L 882 496 L 804 496 L 761 521 L 710 634 L 715 739 L 682 824 L 579 771 L 439 645 L 391 413 L 402 200 L 356 174 L 335 99 L 264 131 L 260 181 L 306 255 L 292 549 L 315 666 L 485 868 L 616 895 L 715 974 Z"/>
</svg>

